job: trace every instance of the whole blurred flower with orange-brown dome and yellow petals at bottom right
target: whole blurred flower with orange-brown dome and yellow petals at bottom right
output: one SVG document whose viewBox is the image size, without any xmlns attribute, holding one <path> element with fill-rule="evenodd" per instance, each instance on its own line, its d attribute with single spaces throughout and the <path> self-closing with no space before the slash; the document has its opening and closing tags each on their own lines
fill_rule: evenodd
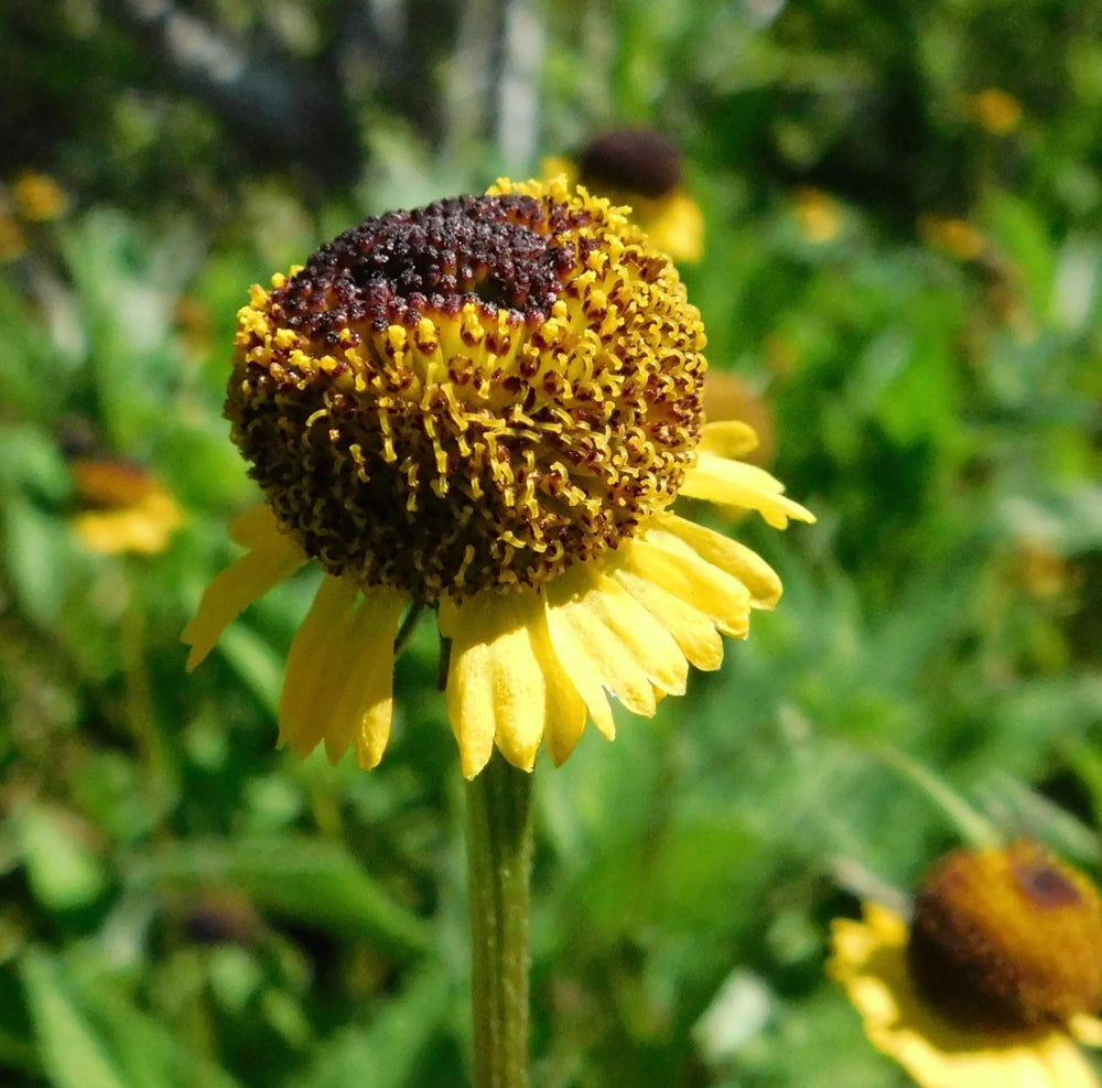
<svg viewBox="0 0 1102 1088">
<path fill-rule="evenodd" d="M 950 854 L 909 925 L 866 903 L 832 929 L 831 974 L 922 1088 L 1098 1088 L 1102 900 L 1036 843 Z"/>
</svg>

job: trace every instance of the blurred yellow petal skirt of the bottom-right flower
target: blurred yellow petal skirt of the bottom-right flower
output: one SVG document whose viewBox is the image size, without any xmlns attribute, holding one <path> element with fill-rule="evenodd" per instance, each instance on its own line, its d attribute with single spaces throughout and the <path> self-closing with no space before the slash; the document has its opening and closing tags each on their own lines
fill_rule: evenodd
<svg viewBox="0 0 1102 1088">
<path fill-rule="evenodd" d="M 922 1088 L 1099 1088 L 1090 1064 L 1055 1026 L 965 1030 L 928 1009 L 907 968 L 907 924 L 865 904 L 863 922 L 834 920 L 829 970 L 872 1043 Z"/>
</svg>

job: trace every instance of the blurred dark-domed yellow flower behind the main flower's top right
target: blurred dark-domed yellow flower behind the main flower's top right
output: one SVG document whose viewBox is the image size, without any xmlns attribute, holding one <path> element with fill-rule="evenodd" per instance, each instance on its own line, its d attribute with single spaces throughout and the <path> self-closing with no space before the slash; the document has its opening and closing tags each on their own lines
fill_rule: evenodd
<svg viewBox="0 0 1102 1088">
<path fill-rule="evenodd" d="M 543 162 L 545 177 L 563 175 L 614 204 L 626 204 L 651 245 L 676 261 L 704 255 L 704 216 L 684 187 L 681 152 L 652 129 L 615 129 L 591 140 L 576 160 Z"/>
</svg>

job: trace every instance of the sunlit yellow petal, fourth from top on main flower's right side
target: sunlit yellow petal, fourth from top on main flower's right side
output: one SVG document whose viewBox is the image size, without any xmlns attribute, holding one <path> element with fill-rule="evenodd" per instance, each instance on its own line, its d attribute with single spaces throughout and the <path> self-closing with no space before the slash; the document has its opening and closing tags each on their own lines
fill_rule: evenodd
<svg viewBox="0 0 1102 1088">
<path fill-rule="evenodd" d="M 707 616 L 725 635 L 745 638 L 749 631 L 750 592 L 736 578 L 700 558 L 676 537 L 648 532 L 624 549 L 623 569 L 660 585 Z M 656 542 L 657 541 L 657 542 Z"/>
</svg>

